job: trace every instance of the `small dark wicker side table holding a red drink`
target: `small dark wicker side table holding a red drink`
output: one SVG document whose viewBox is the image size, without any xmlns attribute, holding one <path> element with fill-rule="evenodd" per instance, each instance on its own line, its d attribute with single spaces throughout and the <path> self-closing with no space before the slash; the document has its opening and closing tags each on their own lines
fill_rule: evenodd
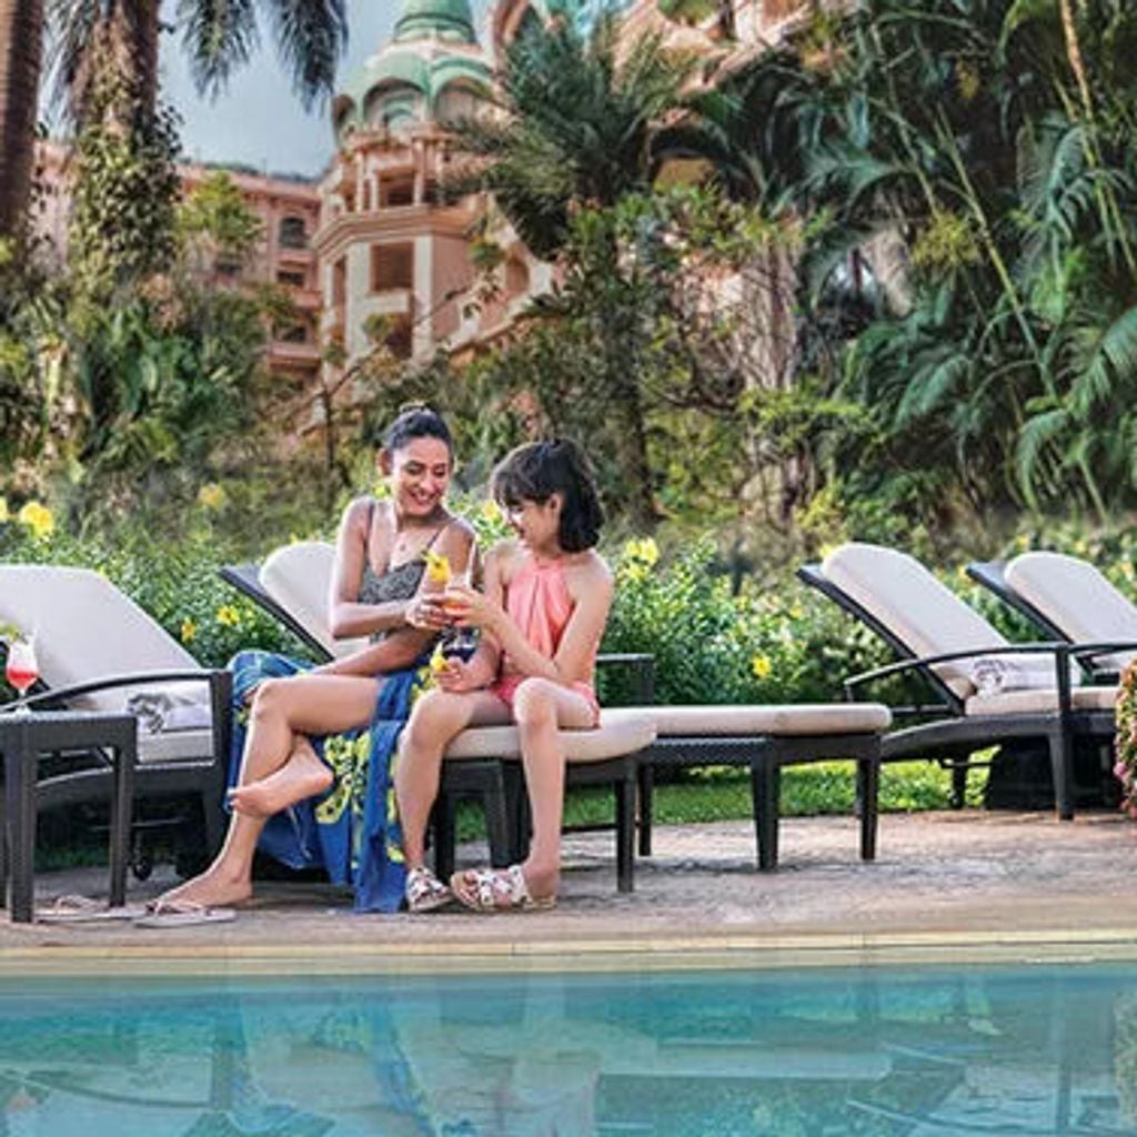
<svg viewBox="0 0 1137 1137">
<path fill-rule="evenodd" d="M 114 753 L 109 771 L 76 771 L 38 785 L 40 755 L 105 747 Z M 9 865 L 14 923 L 31 923 L 35 854 L 35 815 L 41 800 L 52 797 L 82 800 L 92 780 L 113 779 L 110 794 L 110 903 L 126 902 L 126 862 L 131 836 L 134 763 L 138 758 L 138 720 L 128 714 L 84 711 L 43 711 L 0 714 L 0 753 L 3 755 L 5 812 L 0 843 L 0 895 L 7 893 Z M 52 790 L 59 792 L 52 794 Z"/>
</svg>

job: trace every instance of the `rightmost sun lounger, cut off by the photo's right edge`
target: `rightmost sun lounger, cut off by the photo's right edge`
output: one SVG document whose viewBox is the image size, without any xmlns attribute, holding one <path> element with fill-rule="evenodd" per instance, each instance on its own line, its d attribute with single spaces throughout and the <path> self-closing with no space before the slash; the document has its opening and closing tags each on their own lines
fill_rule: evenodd
<svg viewBox="0 0 1137 1137">
<path fill-rule="evenodd" d="M 1064 553 L 1022 553 L 972 562 L 968 575 L 1026 616 L 1048 639 L 1068 644 L 1137 642 L 1137 604 L 1088 561 Z M 1082 656 L 1095 678 L 1114 680 L 1135 653 Z"/>
</svg>

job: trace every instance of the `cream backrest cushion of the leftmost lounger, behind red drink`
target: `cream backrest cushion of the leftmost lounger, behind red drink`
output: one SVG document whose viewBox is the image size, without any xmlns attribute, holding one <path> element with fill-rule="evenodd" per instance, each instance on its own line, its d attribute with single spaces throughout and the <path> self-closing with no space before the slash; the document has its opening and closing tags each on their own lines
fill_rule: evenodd
<svg viewBox="0 0 1137 1137">
<path fill-rule="evenodd" d="M 200 666 L 125 592 L 90 568 L 0 565 L 0 623 L 34 632 L 40 677 L 48 687 Z M 99 692 L 84 697 L 82 705 L 117 712 L 126 694 Z"/>
</svg>

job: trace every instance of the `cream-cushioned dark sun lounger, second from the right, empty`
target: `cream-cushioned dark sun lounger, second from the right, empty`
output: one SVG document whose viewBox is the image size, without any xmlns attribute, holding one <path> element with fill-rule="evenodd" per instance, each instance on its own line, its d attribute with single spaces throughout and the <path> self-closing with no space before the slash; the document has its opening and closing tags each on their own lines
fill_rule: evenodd
<svg viewBox="0 0 1137 1137">
<path fill-rule="evenodd" d="M 1076 661 L 1103 645 L 1010 644 L 978 612 L 906 554 L 849 543 L 798 575 L 861 620 L 899 663 L 846 680 L 849 697 L 881 680 L 916 675 L 932 704 L 894 708 L 926 721 L 886 736 L 885 762 L 927 757 L 952 769 L 962 804 L 971 755 L 999 744 L 1038 740 L 1048 748 L 1055 806 L 1074 811 L 1077 738 L 1113 736 L 1112 687 L 1076 686 Z"/>
</svg>

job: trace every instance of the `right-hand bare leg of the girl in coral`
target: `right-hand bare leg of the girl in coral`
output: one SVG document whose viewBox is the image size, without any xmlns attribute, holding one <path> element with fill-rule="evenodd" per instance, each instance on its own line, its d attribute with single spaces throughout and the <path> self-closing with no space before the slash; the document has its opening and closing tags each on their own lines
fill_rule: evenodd
<svg viewBox="0 0 1137 1137">
<path fill-rule="evenodd" d="M 578 691 L 547 679 L 526 679 L 514 696 L 513 716 L 533 815 L 533 839 L 521 868 L 531 896 L 556 896 L 565 791 L 565 756 L 557 729 L 594 727 L 595 712 Z"/>
</svg>

